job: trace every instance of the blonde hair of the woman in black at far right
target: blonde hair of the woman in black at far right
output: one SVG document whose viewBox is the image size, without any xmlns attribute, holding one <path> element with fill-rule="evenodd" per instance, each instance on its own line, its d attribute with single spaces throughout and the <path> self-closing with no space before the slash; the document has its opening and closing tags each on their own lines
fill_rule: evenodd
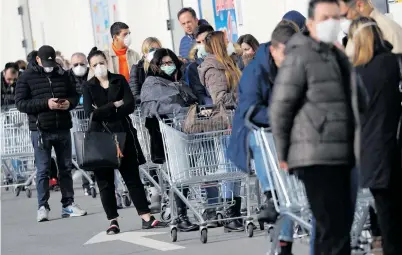
<svg viewBox="0 0 402 255">
<path fill-rule="evenodd" d="M 354 45 L 352 59 L 354 66 L 365 65 L 370 62 L 374 56 L 376 40 L 384 40 L 375 20 L 368 17 L 359 17 L 354 20 L 350 25 L 348 37 Z"/>
</svg>

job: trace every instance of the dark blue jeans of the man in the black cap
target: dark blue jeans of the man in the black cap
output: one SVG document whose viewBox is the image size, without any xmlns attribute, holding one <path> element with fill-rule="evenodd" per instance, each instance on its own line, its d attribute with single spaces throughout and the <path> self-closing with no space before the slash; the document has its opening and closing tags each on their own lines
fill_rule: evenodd
<svg viewBox="0 0 402 255">
<path fill-rule="evenodd" d="M 40 139 L 40 137 L 42 137 Z M 59 170 L 59 185 L 61 203 L 67 207 L 74 202 L 73 179 L 71 176 L 71 135 L 69 130 L 55 132 L 33 131 L 31 133 L 35 154 L 36 189 L 38 192 L 38 208 L 45 206 L 49 209 L 49 174 L 51 167 L 52 148 L 56 153 Z M 42 141 L 40 141 L 42 140 Z"/>
</svg>

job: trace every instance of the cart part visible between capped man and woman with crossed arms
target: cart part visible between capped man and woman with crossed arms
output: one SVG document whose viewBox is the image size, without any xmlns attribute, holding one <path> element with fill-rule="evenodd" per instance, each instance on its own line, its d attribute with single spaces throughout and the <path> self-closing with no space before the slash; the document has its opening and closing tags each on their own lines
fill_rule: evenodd
<svg viewBox="0 0 402 255">
<path fill-rule="evenodd" d="M 76 171 L 79 171 L 80 174 L 82 174 L 89 182 L 89 194 L 93 198 L 96 198 L 97 192 L 95 188 L 95 183 L 93 182 L 92 178 L 89 176 L 89 174 L 81 169 L 77 163 L 77 157 L 76 157 L 76 152 L 75 152 L 75 141 L 74 141 L 74 133 L 79 132 L 79 131 L 87 131 L 88 130 L 88 125 L 89 125 L 89 119 L 86 117 L 84 108 L 82 106 L 79 106 L 75 108 L 74 110 L 70 111 L 71 114 L 71 120 L 73 122 L 73 128 L 71 130 L 71 142 L 72 142 L 72 163 L 73 166 L 75 167 Z"/>
</svg>

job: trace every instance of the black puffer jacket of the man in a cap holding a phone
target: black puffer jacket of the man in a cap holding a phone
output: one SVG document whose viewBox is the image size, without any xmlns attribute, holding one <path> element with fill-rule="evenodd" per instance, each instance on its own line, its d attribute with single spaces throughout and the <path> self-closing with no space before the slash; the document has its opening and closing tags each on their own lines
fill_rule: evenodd
<svg viewBox="0 0 402 255">
<path fill-rule="evenodd" d="M 78 94 L 67 72 L 56 67 L 47 74 L 36 62 L 17 81 L 15 103 L 19 111 L 27 113 L 29 129 L 41 131 L 68 130 L 72 127 L 69 111 L 50 110 L 50 98 L 66 99 L 70 109 L 78 103 Z M 38 124 L 37 124 L 38 121 Z"/>
</svg>

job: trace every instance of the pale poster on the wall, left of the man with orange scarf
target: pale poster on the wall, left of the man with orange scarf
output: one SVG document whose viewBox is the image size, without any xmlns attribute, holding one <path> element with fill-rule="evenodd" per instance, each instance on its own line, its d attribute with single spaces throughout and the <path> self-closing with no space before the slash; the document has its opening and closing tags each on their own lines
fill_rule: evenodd
<svg viewBox="0 0 402 255">
<path fill-rule="evenodd" d="M 91 0 L 92 27 L 95 36 L 95 45 L 106 50 L 110 44 L 109 1 Z"/>
</svg>

